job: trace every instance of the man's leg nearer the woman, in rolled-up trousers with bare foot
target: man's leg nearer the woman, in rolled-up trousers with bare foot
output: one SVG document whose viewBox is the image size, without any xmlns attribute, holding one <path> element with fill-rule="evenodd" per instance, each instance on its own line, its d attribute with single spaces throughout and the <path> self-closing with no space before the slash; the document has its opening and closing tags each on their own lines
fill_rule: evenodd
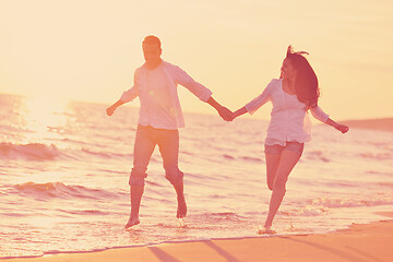
<svg viewBox="0 0 393 262">
<path fill-rule="evenodd" d="M 178 209 L 176 216 L 183 218 L 187 215 L 187 204 L 183 192 L 183 172 L 178 166 L 179 159 L 179 131 L 164 130 L 157 141 L 163 157 L 165 177 L 174 186 L 177 193 Z"/>
</svg>

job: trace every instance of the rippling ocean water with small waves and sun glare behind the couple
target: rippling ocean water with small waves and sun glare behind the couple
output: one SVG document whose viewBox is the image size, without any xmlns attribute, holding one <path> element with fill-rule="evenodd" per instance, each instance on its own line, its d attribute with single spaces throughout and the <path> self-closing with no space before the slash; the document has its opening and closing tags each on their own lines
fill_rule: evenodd
<svg viewBox="0 0 393 262">
<path fill-rule="evenodd" d="M 269 122 L 184 114 L 179 167 L 186 226 L 158 148 L 148 166 L 141 224 L 130 212 L 138 108 L 0 95 L 0 258 L 255 237 L 267 214 L 263 142 Z M 393 133 L 314 124 L 274 219 L 278 235 L 330 233 L 383 219 L 393 204 Z"/>
</svg>

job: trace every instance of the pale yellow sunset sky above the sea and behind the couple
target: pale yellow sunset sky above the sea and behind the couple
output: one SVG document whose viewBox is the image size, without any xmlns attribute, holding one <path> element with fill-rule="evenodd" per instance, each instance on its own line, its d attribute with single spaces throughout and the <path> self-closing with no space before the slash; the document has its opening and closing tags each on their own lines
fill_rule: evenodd
<svg viewBox="0 0 393 262">
<path fill-rule="evenodd" d="M 305 50 L 335 120 L 393 117 L 393 1 L 0 0 L 0 93 L 112 104 L 156 35 L 177 64 L 231 110 Z M 214 109 L 179 86 L 184 111 Z M 130 103 L 139 106 L 139 102 Z M 269 119 L 271 106 L 255 118 Z"/>
</svg>

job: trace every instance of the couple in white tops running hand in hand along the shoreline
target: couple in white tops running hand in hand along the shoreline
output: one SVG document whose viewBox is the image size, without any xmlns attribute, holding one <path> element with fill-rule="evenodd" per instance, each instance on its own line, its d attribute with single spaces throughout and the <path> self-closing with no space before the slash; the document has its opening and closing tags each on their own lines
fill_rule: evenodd
<svg viewBox="0 0 393 262">
<path fill-rule="evenodd" d="M 178 129 L 184 127 L 177 93 L 177 85 L 180 84 L 202 102 L 214 107 L 226 121 L 233 121 L 246 112 L 253 114 L 267 102 L 273 104 L 264 143 L 266 181 L 272 196 L 265 224 L 259 229 L 259 234 L 274 234 L 271 227 L 285 195 L 287 178 L 300 159 L 305 142 L 311 138 L 310 127 L 307 127 L 308 122 L 305 121 L 308 120 L 306 112 L 310 110 L 314 118 L 342 133 L 348 131 L 348 127 L 333 121 L 318 106 L 318 79 L 302 56 L 307 52 L 294 52 L 289 46 L 279 79 L 272 80 L 262 94 L 233 112 L 219 105 L 212 97 L 209 88 L 195 82 L 179 67 L 163 61 L 160 40 L 156 36 L 146 36 L 142 49 L 145 63 L 135 70 L 134 85 L 106 109 L 107 115 L 111 116 L 119 106 L 136 97 L 140 98 L 133 167 L 129 179 L 131 213 L 124 228 L 129 229 L 140 224 L 139 210 L 144 191 L 144 179 L 147 177 L 148 162 L 156 145 L 163 157 L 165 176 L 177 193 L 177 217 L 186 217 L 183 172 L 178 167 Z"/>
</svg>

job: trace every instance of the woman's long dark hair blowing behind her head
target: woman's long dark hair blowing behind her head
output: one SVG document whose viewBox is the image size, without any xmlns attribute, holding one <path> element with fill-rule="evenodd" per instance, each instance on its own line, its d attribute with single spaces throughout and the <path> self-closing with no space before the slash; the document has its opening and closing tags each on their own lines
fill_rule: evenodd
<svg viewBox="0 0 393 262">
<path fill-rule="evenodd" d="M 299 102 L 306 104 L 306 109 L 310 109 L 318 105 L 320 90 L 318 86 L 318 78 L 312 70 L 310 63 L 302 56 L 308 52 L 295 52 L 291 46 L 288 46 L 286 58 L 290 60 L 297 74 L 295 80 L 295 93 Z"/>
</svg>

